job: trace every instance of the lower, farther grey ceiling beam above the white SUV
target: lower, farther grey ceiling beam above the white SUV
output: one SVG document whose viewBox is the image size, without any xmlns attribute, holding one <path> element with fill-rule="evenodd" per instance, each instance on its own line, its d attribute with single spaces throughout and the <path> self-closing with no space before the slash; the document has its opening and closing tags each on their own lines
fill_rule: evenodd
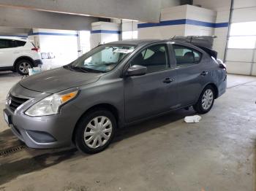
<svg viewBox="0 0 256 191">
<path fill-rule="evenodd" d="M 0 7 L 0 26 L 90 31 L 97 17 Z"/>
</svg>

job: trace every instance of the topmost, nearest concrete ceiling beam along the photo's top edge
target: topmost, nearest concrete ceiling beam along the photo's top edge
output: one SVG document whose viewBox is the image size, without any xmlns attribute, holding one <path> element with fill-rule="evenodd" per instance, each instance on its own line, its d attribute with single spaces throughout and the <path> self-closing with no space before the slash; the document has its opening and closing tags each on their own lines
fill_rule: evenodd
<svg viewBox="0 0 256 191">
<path fill-rule="evenodd" d="M 166 0 L 165 0 L 166 1 Z M 177 1 L 177 0 L 169 0 Z M 2 7 L 159 22 L 159 0 L 0 0 Z"/>
</svg>

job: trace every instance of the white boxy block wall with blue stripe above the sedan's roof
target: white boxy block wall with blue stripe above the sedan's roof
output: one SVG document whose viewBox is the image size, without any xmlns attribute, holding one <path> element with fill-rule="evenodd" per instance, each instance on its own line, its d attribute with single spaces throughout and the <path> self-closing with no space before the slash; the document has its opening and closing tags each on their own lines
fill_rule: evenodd
<svg viewBox="0 0 256 191">
<path fill-rule="evenodd" d="M 170 39 L 173 36 L 214 35 L 217 12 L 181 5 L 162 9 L 160 23 L 139 23 L 139 39 Z"/>
</svg>

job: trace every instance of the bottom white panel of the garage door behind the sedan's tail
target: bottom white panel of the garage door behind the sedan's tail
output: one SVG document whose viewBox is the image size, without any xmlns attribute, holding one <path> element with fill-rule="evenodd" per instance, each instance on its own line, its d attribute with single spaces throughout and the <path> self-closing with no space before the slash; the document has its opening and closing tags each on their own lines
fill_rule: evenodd
<svg viewBox="0 0 256 191">
<path fill-rule="evenodd" d="M 227 61 L 227 72 L 230 74 L 250 75 L 252 63 Z"/>
</svg>

